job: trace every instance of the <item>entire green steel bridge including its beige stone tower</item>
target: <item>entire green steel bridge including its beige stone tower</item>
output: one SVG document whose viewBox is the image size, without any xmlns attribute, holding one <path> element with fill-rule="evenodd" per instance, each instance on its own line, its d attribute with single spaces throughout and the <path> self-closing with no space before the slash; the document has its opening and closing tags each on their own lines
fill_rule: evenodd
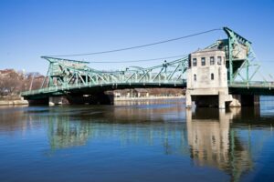
<svg viewBox="0 0 274 182">
<path fill-rule="evenodd" d="M 21 96 L 30 103 L 58 104 L 62 97 L 71 103 L 111 103 L 106 94 L 109 90 L 177 87 L 186 88 L 186 106 L 195 102 L 196 106 L 219 108 L 254 105 L 258 96 L 273 96 L 273 83 L 253 81 L 260 65 L 251 42 L 227 27 L 223 30 L 226 39 L 158 66 L 102 71 L 90 68 L 89 62 L 42 56 L 49 66 L 41 88 L 22 92 Z"/>
</svg>

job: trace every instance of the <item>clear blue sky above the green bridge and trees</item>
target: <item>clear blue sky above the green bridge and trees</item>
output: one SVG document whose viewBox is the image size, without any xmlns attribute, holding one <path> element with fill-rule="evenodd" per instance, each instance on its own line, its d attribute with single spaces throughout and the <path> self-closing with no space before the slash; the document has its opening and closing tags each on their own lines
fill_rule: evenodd
<svg viewBox="0 0 274 182">
<path fill-rule="evenodd" d="M 227 25 L 253 43 L 262 71 L 274 64 L 274 1 L 262 0 L 0 0 L 0 69 L 47 72 L 40 56 L 90 53 L 143 45 Z M 92 64 L 189 54 L 225 38 L 222 31 L 96 56 L 97 69 L 153 66 L 147 63 Z M 273 71 L 272 71 L 273 73 Z M 274 73 L 273 73 L 274 74 Z"/>
</svg>

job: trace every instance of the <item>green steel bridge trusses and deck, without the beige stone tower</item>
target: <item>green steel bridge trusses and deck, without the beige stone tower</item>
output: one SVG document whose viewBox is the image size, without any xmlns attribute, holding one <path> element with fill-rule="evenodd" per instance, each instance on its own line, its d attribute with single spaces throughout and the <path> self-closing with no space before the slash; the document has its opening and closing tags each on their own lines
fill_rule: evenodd
<svg viewBox="0 0 274 182">
<path fill-rule="evenodd" d="M 226 53 L 227 80 L 231 94 L 274 95 L 274 83 L 253 81 L 260 64 L 251 42 L 224 27 L 227 38 L 205 48 L 215 48 Z M 188 56 L 174 61 L 163 61 L 151 67 L 129 66 L 119 71 L 100 71 L 88 66 L 89 62 L 42 56 L 49 62 L 47 76 L 40 89 L 22 92 L 27 100 L 49 96 L 83 96 L 107 90 L 136 87 L 186 87 Z"/>
</svg>

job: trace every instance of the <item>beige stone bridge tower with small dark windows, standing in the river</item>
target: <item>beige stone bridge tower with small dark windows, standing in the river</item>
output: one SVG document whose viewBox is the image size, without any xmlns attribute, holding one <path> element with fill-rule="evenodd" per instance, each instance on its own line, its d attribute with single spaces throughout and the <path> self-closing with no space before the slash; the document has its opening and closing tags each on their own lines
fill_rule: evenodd
<svg viewBox="0 0 274 182">
<path fill-rule="evenodd" d="M 231 101 L 227 86 L 226 54 L 217 48 L 206 48 L 189 55 L 186 106 L 226 108 Z"/>
</svg>

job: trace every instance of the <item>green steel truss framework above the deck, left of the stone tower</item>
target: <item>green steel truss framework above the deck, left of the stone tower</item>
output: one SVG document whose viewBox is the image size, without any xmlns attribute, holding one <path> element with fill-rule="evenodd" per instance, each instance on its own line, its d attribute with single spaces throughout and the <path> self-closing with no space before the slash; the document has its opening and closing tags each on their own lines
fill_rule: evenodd
<svg viewBox="0 0 274 182">
<path fill-rule="evenodd" d="M 145 84 L 182 83 L 187 69 L 188 57 L 166 62 L 160 66 L 142 68 L 130 66 L 119 71 L 99 71 L 90 68 L 88 62 L 47 57 L 49 62 L 43 87 L 54 86 L 95 86 L 101 84 Z"/>
</svg>

